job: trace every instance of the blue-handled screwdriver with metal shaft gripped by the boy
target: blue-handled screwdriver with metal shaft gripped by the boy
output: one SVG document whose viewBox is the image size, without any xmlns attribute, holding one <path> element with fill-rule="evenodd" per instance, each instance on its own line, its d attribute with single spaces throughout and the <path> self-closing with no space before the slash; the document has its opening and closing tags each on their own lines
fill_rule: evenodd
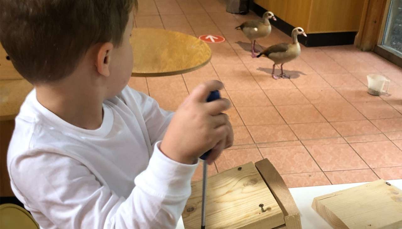
<svg viewBox="0 0 402 229">
<path fill-rule="evenodd" d="M 220 99 L 221 96 L 219 91 L 211 91 L 207 98 L 207 102 L 211 102 L 217 99 Z M 207 203 L 207 178 L 208 178 L 208 164 L 207 158 L 211 150 L 208 150 L 206 153 L 200 156 L 200 159 L 203 160 L 203 171 L 202 171 L 202 204 L 201 204 L 201 229 L 205 229 L 205 205 Z"/>
</svg>

